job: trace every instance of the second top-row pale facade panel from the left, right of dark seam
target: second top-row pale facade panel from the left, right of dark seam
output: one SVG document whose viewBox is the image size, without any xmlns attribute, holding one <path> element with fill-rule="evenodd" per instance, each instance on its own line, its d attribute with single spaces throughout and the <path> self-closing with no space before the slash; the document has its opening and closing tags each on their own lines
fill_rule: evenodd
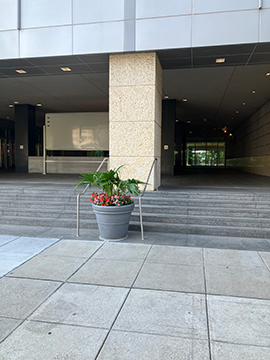
<svg viewBox="0 0 270 360">
<path fill-rule="evenodd" d="M 22 28 L 70 25 L 71 0 L 21 0 Z"/>
</svg>

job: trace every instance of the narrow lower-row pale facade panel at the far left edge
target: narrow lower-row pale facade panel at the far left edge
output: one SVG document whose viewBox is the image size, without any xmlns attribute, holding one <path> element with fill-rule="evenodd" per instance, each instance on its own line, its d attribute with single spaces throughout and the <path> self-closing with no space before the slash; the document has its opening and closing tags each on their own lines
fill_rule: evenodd
<svg viewBox="0 0 270 360">
<path fill-rule="evenodd" d="M 18 31 L 0 32 L 0 59 L 19 57 Z"/>
</svg>

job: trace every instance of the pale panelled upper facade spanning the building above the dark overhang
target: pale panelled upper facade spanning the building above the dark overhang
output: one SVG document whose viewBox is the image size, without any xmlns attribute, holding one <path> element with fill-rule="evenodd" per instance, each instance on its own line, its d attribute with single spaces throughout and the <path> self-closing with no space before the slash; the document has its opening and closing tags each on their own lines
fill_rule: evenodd
<svg viewBox="0 0 270 360">
<path fill-rule="evenodd" d="M 0 58 L 270 41 L 270 0 L 0 1 Z"/>
</svg>

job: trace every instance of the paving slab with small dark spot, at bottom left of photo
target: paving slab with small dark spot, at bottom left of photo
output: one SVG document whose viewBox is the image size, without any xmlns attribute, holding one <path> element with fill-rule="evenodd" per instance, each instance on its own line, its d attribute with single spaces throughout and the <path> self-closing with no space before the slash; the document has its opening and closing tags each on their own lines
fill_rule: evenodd
<svg viewBox="0 0 270 360">
<path fill-rule="evenodd" d="M 5 360 L 94 360 L 106 330 L 26 321 L 0 347 Z"/>
</svg>

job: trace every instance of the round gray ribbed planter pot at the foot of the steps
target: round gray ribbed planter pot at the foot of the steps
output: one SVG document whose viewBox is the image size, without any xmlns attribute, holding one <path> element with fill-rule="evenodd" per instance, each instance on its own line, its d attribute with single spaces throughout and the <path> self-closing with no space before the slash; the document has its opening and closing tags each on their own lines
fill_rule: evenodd
<svg viewBox="0 0 270 360">
<path fill-rule="evenodd" d="M 124 206 L 99 206 L 92 204 L 96 214 L 101 240 L 123 240 L 127 237 L 128 226 L 134 203 Z"/>
</svg>

